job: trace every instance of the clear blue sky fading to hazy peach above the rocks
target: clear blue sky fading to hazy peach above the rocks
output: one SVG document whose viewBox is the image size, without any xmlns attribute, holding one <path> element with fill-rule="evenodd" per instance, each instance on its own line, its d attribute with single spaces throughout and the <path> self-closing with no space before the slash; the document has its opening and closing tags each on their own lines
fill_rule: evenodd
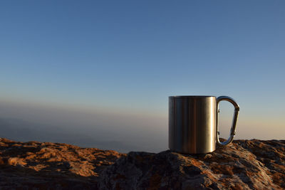
<svg viewBox="0 0 285 190">
<path fill-rule="evenodd" d="M 0 132 L 158 152 L 168 96 L 228 95 L 240 106 L 236 139 L 284 139 L 284 9 L 281 0 L 1 1 Z M 233 107 L 220 107 L 227 138 Z"/>
</svg>

